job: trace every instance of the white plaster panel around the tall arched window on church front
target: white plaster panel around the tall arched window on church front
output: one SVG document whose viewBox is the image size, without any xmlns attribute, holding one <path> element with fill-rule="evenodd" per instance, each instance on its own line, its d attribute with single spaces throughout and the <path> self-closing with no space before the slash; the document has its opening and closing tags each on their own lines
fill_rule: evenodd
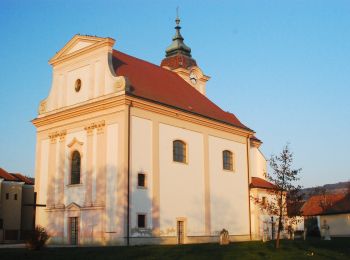
<svg viewBox="0 0 350 260">
<path fill-rule="evenodd" d="M 80 178 L 82 184 L 79 185 L 69 185 L 69 175 L 70 175 L 70 156 L 71 150 L 67 147 L 72 140 L 76 138 L 79 142 L 83 143 L 83 152 L 81 154 L 81 172 Z M 79 206 L 84 204 L 85 199 L 85 183 L 86 183 L 86 131 L 74 131 L 67 134 L 65 139 L 65 176 L 64 176 L 64 204 L 69 205 L 74 202 Z M 58 165 L 57 165 L 58 166 Z"/>
</svg>

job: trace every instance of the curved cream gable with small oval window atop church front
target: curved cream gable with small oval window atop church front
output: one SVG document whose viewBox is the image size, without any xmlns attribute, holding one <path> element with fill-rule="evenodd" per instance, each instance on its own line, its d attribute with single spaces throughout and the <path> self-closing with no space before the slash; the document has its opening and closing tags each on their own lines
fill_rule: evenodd
<svg viewBox="0 0 350 260">
<path fill-rule="evenodd" d="M 75 35 L 49 63 L 53 67 L 49 96 L 40 103 L 40 116 L 80 106 L 108 94 L 123 94 L 128 81 L 115 74 L 112 38 Z"/>
</svg>

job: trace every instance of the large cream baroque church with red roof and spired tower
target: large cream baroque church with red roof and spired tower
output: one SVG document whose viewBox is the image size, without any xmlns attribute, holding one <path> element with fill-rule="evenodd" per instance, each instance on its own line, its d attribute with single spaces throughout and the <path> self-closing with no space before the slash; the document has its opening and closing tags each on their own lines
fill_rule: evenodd
<svg viewBox="0 0 350 260">
<path fill-rule="evenodd" d="M 180 33 L 160 65 L 75 35 L 53 58 L 36 127 L 36 224 L 50 243 L 260 239 L 251 190 L 270 188 L 255 132 L 206 96 Z M 230 93 L 227 93 L 230 95 Z"/>
</svg>

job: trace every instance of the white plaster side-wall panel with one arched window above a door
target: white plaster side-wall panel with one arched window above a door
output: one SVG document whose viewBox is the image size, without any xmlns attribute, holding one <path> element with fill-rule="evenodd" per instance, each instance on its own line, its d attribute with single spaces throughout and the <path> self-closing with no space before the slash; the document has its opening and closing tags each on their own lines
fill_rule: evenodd
<svg viewBox="0 0 350 260">
<path fill-rule="evenodd" d="M 173 141 L 187 144 L 188 163 L 173 162 Z M 203 235 L 203 135 L 170 125 L 159 125 L 160 231 L 176 235 L 176 219 L 186 218 L 187 235 Z"/>
</svg>

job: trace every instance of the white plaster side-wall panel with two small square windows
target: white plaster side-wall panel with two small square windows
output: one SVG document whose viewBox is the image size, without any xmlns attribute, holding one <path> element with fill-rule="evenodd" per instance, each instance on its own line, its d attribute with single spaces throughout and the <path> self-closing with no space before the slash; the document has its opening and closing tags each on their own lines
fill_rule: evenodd
<svg viewBox="0 0 350 260">
<path fill-rule="evenodd" d="M 146 188 L 137 187 L 137 174 L 146 173 Z M 152 228 L 152 121 L 131 118 L 131 228 L 137 228 L 137 214 L 146 214 L 146 228 Z M 135 234 L 137 235 L 137 234 Z"/>
</svg>

